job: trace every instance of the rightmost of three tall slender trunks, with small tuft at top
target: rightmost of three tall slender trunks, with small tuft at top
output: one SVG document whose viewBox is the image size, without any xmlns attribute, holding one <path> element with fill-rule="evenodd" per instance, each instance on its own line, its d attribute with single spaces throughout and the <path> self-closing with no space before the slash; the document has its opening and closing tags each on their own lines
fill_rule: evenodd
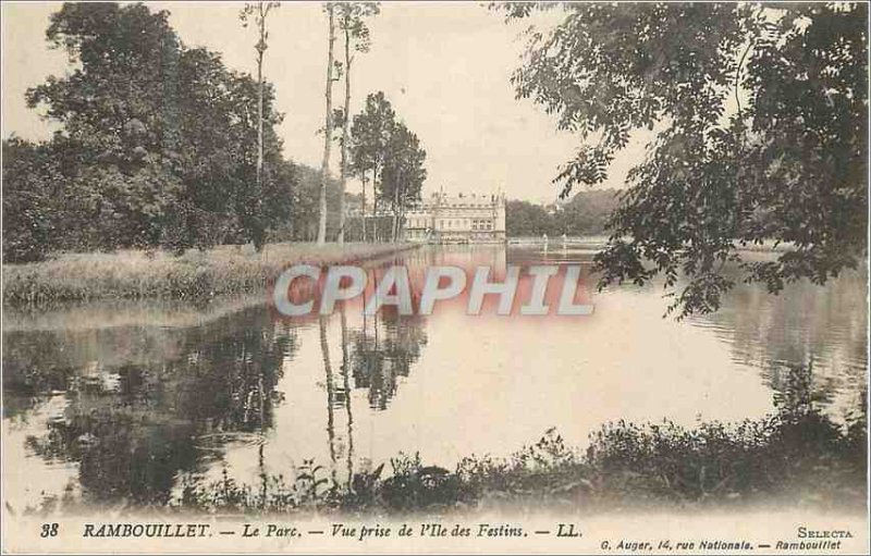
<svg viewBox="0 0 871 556">
<path fill-rule="evenodd" d="M 376 2 L 343 2 L 339 4 L 339 26 L 342 28 L 345 39 L 345 104 L 342 111 L 342 161 L 340 170 L 342 195 L 339 200 L 339 244 L 344 244 L 345 242 L 345 187 L 347 185 L 348 166 L 351 164 L 348 150 L 351 149 L 351 65 L 354 61 L 352 50 L 354 52 L 369 51 L 369 28 L 366 26 L 365 17 L 377 15 L 378 13 L 379 8 Z M 365 198 L 366 196 L 364 193 L 364 201 Z M 366 211 L 365 202 L 363 210 L 364 212 Z M 364 236 L 365 233 L 364 230 Z"/>
</svg>

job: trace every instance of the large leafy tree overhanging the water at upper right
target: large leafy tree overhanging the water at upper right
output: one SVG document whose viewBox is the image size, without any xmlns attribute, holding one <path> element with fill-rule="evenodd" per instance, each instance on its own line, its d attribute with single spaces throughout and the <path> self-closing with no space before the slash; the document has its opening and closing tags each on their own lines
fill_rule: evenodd
<svg viewBox="0 0 871 556">
<path fill-rule="evenodd" d="M 508 18 L 532 3 L 500 4 Z M 552 4 L 548 4 L 552 8 Z M 532 33 L 518 97 L 582 140 L 555 182 L 606 178 L 634 129 L 649 156 L 609 221 L 601 286 L 658 274 L 679 317 L 734 282 L 824 283 L 867 252 L 868 7 L 860 3 L 563 4 Z M 740 248 L 785 244 L 774 260 Z M 678 273 L 688 279 L 675 291 Z"/>
</svg>

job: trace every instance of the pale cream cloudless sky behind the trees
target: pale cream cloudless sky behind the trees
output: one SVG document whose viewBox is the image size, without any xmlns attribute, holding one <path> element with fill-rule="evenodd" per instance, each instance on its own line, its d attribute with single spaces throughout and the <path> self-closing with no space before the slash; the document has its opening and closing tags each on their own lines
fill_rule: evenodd
<svg viewBox="0 0 871 556">
<path fill-rule="evenodd" d="M 148 2 L 168 10 L 182 41 L 221 52 L 234 70 L 256 73 L 253 28 L 238 21 L 241 3 Z M 2 135 L 46 138 L 52 124 L 26 107 L 24 92 L 49 75 L 69 71 L 66 54 L 45 40 L 51 12 L 60 4 L 2 4 Z M 284 155 L 320 168 L 327 64 L 327 17 L 320 3 L 284 2 L 270 14 L 265 75 L 274 83 L 284 113 L 279 135 Z M 511 74 L 520 63 L 527 23 L 506 24 L 478 2 L 382 2 L 369 23 L 372 46 L 355 59 L 352 113 L 369 92 L 383 90 L 397 115 L 427 150 L 425 195 L 443 188 L 550 202 L 560 164 L 578 146 L 557 132 L 555 119 L 530 100 L 515 99 Z M 336 50 L 341 40 L 336 40 Z M 341 106 L 344 84 L 333 87 Z M 603 187 L 623 187 L 626 171 L 643 155 L 633 141 L 614 162 Z M 333 160 L 338 160 L 334 152 Z M 352 184 L 349 190 L 358 186 Z"/>
</svg>

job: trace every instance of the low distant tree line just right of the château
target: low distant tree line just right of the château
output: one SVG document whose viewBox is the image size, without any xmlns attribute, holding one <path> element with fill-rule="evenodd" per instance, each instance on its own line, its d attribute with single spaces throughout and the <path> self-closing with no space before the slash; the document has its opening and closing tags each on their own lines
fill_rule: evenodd
<svg viewBox="0 0 871 556">
<path fill-rule="evenodd" d="M 505 205 L 505 233 L 508 237 L 603 234 L 609 215 L 619 203 L 617 193 L 579 191 L 565 205 L 551 208 L 510 200 Z"/>
</svg>

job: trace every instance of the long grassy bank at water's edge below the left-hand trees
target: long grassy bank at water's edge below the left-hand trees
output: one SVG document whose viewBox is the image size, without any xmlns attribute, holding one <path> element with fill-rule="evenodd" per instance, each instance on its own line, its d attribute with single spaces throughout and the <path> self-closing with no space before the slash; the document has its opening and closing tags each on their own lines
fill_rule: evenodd
<svg viewBox="0 0 871 556">
<path fill-rule="evenodd" d="M 197 298 L 262 289 L 296 262 L 358 262 L 414 248 L 412 244 L 271 244 L 111 254 L 63 254 L 52 260 L 3 265 L 3 304 L 60 300 Z"/>
</svg>

